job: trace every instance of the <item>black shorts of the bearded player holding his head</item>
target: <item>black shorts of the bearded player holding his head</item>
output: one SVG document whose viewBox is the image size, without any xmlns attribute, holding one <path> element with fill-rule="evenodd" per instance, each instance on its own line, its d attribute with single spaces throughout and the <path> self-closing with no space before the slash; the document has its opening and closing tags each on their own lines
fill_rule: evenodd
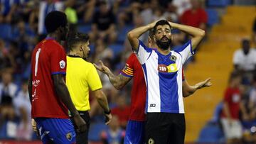
<svg viewBox="0 0 256 144">
<path fill-rule="evenodd" d="M 186 123 L 183 113 L 147 113 L 147 144 L 183 144 Z"/>
</svg>

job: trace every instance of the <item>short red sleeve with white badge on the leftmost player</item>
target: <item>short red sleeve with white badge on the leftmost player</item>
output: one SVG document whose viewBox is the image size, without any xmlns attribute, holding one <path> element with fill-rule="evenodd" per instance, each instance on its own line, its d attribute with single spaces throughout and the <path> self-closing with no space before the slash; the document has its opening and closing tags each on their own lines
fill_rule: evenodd
<svg viewBox="0 0 256 144">
<path fill-rule="evenodd" d="M 65 50 L 61 45 L 56 45 L 50 52 L 50 73 L 65 74 L 67 68 Z"/>
</svg>

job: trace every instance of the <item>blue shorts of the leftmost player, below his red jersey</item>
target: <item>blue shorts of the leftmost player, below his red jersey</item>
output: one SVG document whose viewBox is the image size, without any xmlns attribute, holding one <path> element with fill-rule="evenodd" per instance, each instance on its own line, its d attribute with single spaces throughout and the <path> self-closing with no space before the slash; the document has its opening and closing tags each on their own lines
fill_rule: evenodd
<svg viewBox="0 0 256 144">
<path fill-rule="evenodd" d="M 73 144 L 75 129 L 70 119 L 64 118 L 35 118 L 40 138 L 43 144 Z"/>
</svg>

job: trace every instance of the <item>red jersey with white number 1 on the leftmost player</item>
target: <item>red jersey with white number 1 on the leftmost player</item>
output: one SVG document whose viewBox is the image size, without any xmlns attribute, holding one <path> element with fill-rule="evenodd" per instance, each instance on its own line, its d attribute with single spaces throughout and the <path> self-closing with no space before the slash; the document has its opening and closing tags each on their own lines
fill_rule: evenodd
<svg viewBox="0 0 256 144">
<path fill-rule="evenodd" d="M 32 118 L 68 118 L 68 109 L 55 93 L 52 74 L 65 74 L 66 55 L 53 39 L 42 40 L 32 52 Z"/>
</svg>

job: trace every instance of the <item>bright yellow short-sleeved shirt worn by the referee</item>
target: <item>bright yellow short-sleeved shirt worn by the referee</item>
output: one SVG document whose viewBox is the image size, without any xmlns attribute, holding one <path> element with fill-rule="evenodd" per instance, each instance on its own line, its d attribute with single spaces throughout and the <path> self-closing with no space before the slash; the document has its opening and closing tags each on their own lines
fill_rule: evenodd
<svg viewBox="0 0 256 144">
<path fill-rule="evenodd" d="M 78 111 L 90 110 L 89 88 L 92 91 L 102 88 L 94 65 L 76 56 L 67 56 L 66 83 Z"/>
</svg>

